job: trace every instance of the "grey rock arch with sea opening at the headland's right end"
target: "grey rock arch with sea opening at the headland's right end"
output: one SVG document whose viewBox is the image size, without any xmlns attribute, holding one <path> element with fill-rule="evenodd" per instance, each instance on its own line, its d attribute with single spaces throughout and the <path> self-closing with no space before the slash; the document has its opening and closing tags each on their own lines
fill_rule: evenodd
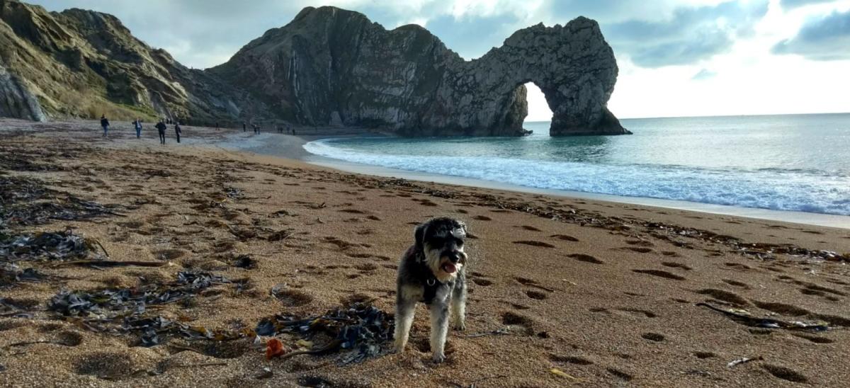
<svg viewBox="0 0 850 388">
<path fill-rule="evenodd" d="M 567 25 L 534 25 L 516 31 L 501 48 L 447 70 L 445 117 L 428 117 L 435 128 L 473 135 L 522 131 L 528 114 L 527 82 L 534 82 L 553 112 L 550 135 L 630 133 L 608 110 L 617 78 L 614 53 L 598 24 L 580 17 Z M 471 119 L 471 120 L 470 120 Z M 452 131 L 452 123 L 460 123 Z"/>
</svg>

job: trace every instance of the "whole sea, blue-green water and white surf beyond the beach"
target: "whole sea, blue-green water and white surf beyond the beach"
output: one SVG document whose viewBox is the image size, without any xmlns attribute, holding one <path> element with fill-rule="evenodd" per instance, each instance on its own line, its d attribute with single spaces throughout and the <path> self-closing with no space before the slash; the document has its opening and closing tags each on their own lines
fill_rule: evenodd
<svg viewBox="0 0 850 388">
<path fill-rule="evenodd" d="M 315 155 L 531 188 L 850 215 L 850 114 L 622 120 L 631 136 L 347 138 Z"/>
</svg>

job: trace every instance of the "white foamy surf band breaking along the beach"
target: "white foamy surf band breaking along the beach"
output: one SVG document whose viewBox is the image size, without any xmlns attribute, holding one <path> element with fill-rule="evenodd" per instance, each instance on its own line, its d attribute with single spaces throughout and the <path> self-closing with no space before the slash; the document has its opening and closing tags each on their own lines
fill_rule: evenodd
<svg viewBox="0 0 850 388">
<path fill-rule="evenodd" d="M 348 149 L 333 139 L 310 142 L 303 147 L 311 154 L 337 160 L 530 188 L 850 215 L 850 178 L 845 174 L 816 170 L 712 169 L 491 156 L 371 154 L 360 149 Z"/>
</svg>

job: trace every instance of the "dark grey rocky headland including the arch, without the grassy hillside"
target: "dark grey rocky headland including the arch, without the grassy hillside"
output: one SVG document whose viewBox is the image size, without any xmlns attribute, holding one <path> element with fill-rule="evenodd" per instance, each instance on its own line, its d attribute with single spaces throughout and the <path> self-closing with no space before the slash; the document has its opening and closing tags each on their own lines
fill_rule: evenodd
<svg viewBox="0 0 850 388">
<path fill-rule="evenodd" d="M 522 132 L 525 82 L 553 110 L 553 135 L 622 134 L 606 107 L 617 65 L 597 23 L 535 25 L 464 61 L 416 25 L 392 31 L 338 8 L 304 8 L 211 70 L 272 110 L 311 125 L 341 121 L 405 136 Z"/>
</svg>

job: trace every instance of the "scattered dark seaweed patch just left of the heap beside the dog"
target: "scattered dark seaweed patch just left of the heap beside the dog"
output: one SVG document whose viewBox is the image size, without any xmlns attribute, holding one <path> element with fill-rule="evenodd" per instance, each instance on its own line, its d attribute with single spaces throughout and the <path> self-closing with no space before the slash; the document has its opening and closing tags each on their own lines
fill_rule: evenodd
<svg viewBox="0 0 850 388">
<path fill-rule="evenodd" d="M 48 302 L 48 310 L 59 312 L 91 331 L 139 335 L 141 346 L 159 345 L 170 336 L 187 340 L 235 340 L 253 333 L 250 330 L 210 330 L 146 313 L 148 306 L 188 302 L 201 290 L 228 283 L 226 278 L 212 273 L 184 271 L 170 284 L 94 291 L 61 290 Z"/>
</svg>

